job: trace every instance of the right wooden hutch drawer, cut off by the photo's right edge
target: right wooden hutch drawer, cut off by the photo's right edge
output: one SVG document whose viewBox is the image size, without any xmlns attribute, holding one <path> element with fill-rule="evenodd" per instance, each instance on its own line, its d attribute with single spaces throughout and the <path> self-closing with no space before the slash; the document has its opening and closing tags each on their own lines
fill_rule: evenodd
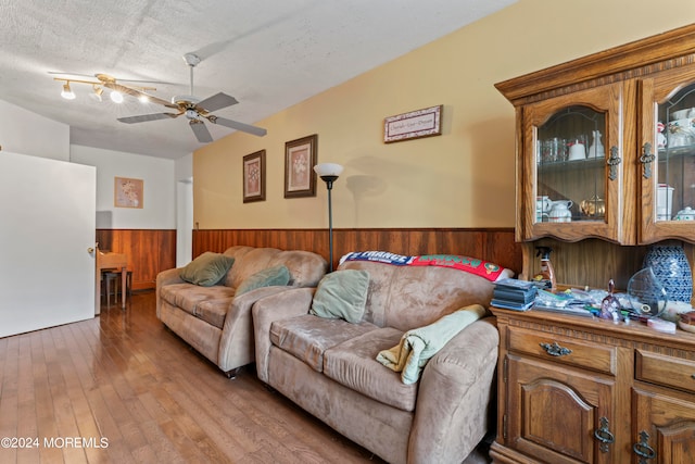
<svg viewBox="0 0 695 464">
<path fill-rule="evenodd" d="M 649 351 L 635 350 L 637 380 L 695 393 L 695 362 Z"/>
</svg>

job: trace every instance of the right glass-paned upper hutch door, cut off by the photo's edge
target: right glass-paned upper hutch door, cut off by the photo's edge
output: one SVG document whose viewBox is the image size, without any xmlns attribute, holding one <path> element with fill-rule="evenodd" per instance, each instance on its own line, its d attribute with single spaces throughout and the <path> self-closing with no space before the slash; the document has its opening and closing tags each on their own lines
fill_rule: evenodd
<svg viewBox="0 0 695 464">
<path fill-rule="evenodd" d="M 640 241 L 695 239 L 695 73 L 643 83 Z"/>
</svg>

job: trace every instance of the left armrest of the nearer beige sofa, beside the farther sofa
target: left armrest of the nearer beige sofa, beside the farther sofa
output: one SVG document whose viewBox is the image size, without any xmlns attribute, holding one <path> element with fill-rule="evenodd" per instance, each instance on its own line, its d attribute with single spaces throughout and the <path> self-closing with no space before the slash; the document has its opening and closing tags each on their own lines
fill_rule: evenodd
<svg viewBox="0 0 695 464">
<path fill-rule="evenodd" d="M 293 288 L 282 293 L 258 300 L 253 305 L 253 333 L 256 343 L 256 374 L 268 383 L 268 355 L 270 353 L 270 325 L 308 313 L 315 288 Z"/>
</svg>

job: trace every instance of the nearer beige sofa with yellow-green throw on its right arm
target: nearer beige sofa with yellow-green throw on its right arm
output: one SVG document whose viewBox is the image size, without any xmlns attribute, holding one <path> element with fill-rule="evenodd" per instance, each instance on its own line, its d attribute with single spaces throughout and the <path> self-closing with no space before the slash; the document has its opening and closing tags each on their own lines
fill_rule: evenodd
<svg viewBox="0 0 695 464">
<path fill-rule="evenodd" d="M 369 284 L 362 322 L 309 313 L 315 289 L 292 289 L 253 308 L 261 380 L 390 463 L 460 463 L 493 430 L 498 333 L 494 317 L 457 333 L 412 385 L 375 359 L 409 329 L 472 303 L 494 284 L 446 267 L 345 262 Z M 505 276 L 511 273 L 506 271 Z"/>
</svg>

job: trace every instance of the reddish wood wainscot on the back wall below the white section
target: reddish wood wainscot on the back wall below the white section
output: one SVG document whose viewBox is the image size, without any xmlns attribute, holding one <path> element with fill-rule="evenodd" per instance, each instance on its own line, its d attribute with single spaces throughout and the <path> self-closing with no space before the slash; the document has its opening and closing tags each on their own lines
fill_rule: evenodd
<svg viewBox="0 0 695 464">
<path fill-rule="evenodd" d="M 132 271 L 132 289 L 153 289 L 156 275 L 176 266 L 176 230 L 97 229 L 102 251 L 124 253 Z"/>
</svg>

